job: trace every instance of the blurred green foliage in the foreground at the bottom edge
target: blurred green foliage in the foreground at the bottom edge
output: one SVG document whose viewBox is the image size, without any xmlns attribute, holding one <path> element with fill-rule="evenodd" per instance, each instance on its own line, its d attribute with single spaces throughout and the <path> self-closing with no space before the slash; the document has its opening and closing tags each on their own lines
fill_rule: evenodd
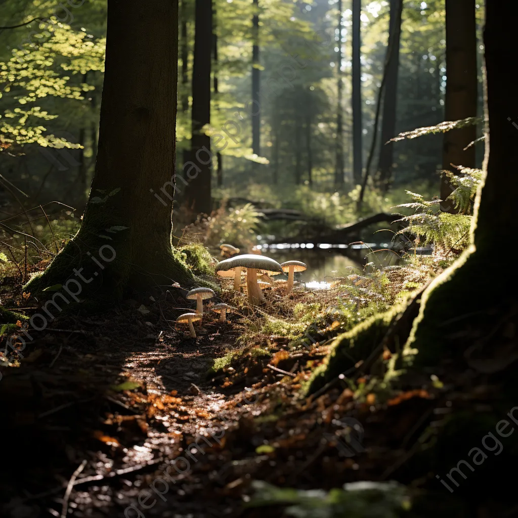
<svg viewBox="0 0 518 518">
<path fill-rule="evenodd" d="M 254 481 L 248 507 L 287 506 L 295 518 L 397 518 L 410 509 L 405 486 L 397 482 L 353 482 L 343 489 L 296 490 Z"/>
</svg>

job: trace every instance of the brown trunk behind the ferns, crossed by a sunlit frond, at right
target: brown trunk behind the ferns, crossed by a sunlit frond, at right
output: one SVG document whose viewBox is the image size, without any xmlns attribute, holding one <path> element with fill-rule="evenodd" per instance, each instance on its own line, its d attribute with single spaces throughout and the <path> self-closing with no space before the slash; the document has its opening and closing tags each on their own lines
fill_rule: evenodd
<svg viewBox="0 0 518 518">
<path fill-rule="evenodd" d="M 477 115 L 477 25 L 473 0 L 446 0 L 446 96 L 444 120 L 456 121 Z M 442 167 L 475 167 L 475 148 L 464 148 L 477 138 L 476 126 L 444 134 Z M 448 177 L 441 178 L 441 209 L 455 212 L 446 198 L 453 191 Z"/>
</svg>

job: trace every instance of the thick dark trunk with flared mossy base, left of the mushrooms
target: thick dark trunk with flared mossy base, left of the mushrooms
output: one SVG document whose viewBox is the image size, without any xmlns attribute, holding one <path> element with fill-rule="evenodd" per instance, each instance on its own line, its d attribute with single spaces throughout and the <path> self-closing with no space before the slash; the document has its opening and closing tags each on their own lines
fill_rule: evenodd
<svg viewBox="0 0 518 518">
<path fill-rule="evenodd" d="M 112 300 L 126 287 L 193 283 L 171 247 L 172 200 L 152 194 L 175 179 L 177 64 L 177 2 L 108 1 L 90 198 L 78 234 L 29 283 L 33 294 L 57 282 L 65 289 L 74 281 L 73 290 L 82 297 L 88 293 L 99 300 L 104 294 Z"/>
</svg>

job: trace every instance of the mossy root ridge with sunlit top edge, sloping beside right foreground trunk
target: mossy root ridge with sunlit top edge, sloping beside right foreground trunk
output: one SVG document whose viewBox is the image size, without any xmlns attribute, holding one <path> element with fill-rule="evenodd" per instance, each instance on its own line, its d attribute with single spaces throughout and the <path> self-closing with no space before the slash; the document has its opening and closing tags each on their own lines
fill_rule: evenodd
<svg viewBox="0 0 518 518">
<path fill-rule="evenodd" d="M 402 309 L 404 308 L 399 305 L 394 306 L 389 311 L 371 316 L 347 333 L 338 335 L 331 344 L 324 363 L 313 371 L 305 392 L 315 392 L 344 370 L 366 359 L 379 346 L 392 321 Z"/>
</svg>

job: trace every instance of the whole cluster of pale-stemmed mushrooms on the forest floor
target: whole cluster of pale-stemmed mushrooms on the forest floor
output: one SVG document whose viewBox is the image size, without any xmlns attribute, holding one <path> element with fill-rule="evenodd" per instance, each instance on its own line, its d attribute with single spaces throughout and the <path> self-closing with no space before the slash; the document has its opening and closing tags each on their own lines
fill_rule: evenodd
<svg viewBox="0 0 518 518">
<path fill-rule="evenodd" d="M 223 249 L 225 247 L 225 249 Z M 272 285 L 273 281 L 270 276 L 279 275 L 282 273 L 288 274 L 286 282 L 286 294 L 293 289 L 295 272 L 304 271 L 307 266 L 300 261 L 286 261 L 279 264 L 270 257 L 265 257 L 259 254 L 242 254 L 239 249 L 229 244 L 224 244 L 221 247 L 222 256 L 231 255 L 231 257 L 219 262 L 215 267 L 215 272 L 220 277 L 234 279 L 234 290 L 240 291 L 241 286 L 246 286 L 247 295 L 250 304 L 258 305 L 266 302 L 262 290 Z M 241 276 L 246 278 L 245 283 L 241 284 Z M 191 336 L 196 338 L 193 322 L 203 319 L 203 301 L 215 297 L 216 294 L 210 288 L 195 288 L 191 290 L 186 298 L 196 300 L 196 312 L 184 313 L 177 319 L 179 324 L 189 324 Z M 220 313 L 220 322 L 226 322 L 227 311 L 233 311 L 236 308 L 228 304 L 216 304 L 212 310 Z"/>
</svg>

